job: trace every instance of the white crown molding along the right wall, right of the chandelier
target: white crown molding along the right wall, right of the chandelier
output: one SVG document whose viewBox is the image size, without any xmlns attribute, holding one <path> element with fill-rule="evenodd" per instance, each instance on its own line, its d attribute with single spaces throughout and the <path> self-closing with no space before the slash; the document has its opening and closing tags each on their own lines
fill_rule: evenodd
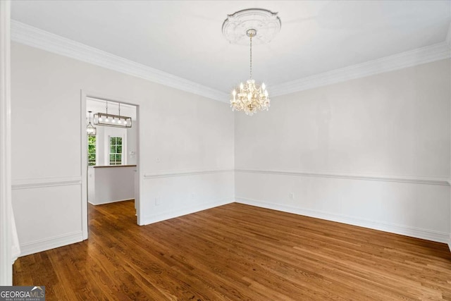
<svg viewBox="0 0 451 301">
<path fill-rule="evenodd" d="M 284 82 L 280 85 L 272 86 L 269 92 L 271 97 L 277 97 L 315 87 L 332 85 L 337 82 L 345 82 L 347 80 L 364 78 L 369 75 L 412 67 L 422 63 L 449 59 L 450 57 L 451 49 L 449 45 L 447 42 L 441 42 L 419 49 L 405 51 L 393 56 L 385 56 L 381 59 L 307 76 L 299 80 Z"/>
</svg>

